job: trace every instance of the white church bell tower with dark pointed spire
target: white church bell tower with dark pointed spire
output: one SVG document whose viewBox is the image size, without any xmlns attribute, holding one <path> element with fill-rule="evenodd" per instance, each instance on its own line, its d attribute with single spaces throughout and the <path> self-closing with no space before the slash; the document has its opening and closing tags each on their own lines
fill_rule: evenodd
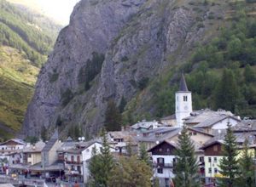
<svg viewBox="0 0 256 187">
<path fill-rule="evenodd" d="M 192 94 L 187 88 L 187 83 L 182 74 L 179 90 L 175 94 L 175 115 L 178 127 L 183 127 L 183 118 L 192 112 Z"/>
</svg>

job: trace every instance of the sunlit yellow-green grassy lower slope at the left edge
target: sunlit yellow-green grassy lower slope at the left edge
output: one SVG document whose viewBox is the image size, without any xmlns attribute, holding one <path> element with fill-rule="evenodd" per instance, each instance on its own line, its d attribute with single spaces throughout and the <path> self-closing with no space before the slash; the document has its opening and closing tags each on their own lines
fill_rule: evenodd
<svg viewBox="0 0 256 187">
<path fill-rule="evenodd" d="M 0 47 L 0 123 L 8 127 L 0 137 L 10 137 L 20 129 L 38 71 L 17 49 Z"/>
</svg>

